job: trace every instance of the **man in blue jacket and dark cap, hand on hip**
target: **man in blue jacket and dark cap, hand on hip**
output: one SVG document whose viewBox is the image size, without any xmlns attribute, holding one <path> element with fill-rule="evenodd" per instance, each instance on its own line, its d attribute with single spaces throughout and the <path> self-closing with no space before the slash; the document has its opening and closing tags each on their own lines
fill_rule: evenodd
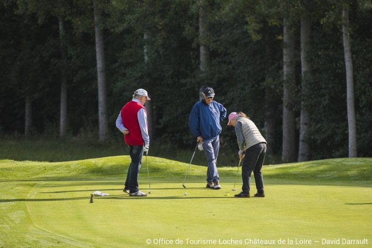
<svg viewBox="0 0 372 248">
<path fill-rule="evenodd" d="M 202 92 L 203 99 L 194 104 L 188 118 L 188 126 L 197 141 L 202 145 L 207 158 L 207 188 L 219 190 L 219 176 L 216 166 L 219 134 L 222 131 L 219 122 L 226 117 L 226 108 L 213 101 L 215 92 L 207 87 Z"/>
</svg>

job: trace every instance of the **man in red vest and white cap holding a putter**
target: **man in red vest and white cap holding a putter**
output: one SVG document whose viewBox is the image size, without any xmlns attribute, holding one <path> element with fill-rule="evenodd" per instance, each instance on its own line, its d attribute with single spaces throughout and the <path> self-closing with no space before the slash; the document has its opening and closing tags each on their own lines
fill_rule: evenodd
<svg viewBox="0 0 372 248">
<path fill-rule="evenodd" d="M 127 102 L 116 119 L 116 127 L 124 133 L 124 141 L 129 146 L 131 163 L 126 175 L 124 192 L 129 196 L 147 196 L 138 189 L 142 156 L 149 151 L 150 138 L 147 127 L 147 111 L 143 106 L 151 100 L 147 91 L 139 88 L 133 94 L 133 99 Z"/>
</svg>

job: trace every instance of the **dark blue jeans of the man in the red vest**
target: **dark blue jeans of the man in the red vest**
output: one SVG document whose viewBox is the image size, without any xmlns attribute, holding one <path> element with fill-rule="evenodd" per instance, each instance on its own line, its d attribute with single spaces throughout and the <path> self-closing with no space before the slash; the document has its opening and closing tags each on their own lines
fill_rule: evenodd
<svg viewBox="0 0 372 248">
<path fill-rule="evenodd" d="M 138 175 L 140 174 L 143 146 L 129 146 L 129 155 L 132 161 L 126 174 L 124 190 L 129 190 L 129 193 L 135 193 L 139 191 Z"/>
</svg>

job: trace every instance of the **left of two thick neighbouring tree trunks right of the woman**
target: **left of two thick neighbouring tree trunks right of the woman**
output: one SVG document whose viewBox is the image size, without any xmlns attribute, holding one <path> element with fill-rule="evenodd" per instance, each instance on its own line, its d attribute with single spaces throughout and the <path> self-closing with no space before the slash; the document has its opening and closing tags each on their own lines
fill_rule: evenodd
<svg viewBox="0 0 372 248">
<path fill-rule="evenodd" d="M 294 33 L 290 30 L 284 18 L 283 26 L 283 61 L 284 61 L 284 89 L 283 89 L 283 141 L 281 160 L 293 162 L 296 159 L 295 119 L 294 119 Z"/>
</svg>

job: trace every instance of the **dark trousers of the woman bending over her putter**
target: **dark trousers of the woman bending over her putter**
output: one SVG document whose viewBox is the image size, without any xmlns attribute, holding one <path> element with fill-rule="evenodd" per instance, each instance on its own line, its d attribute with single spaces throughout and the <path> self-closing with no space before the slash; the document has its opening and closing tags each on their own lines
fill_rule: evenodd
<svg viewBox="0 0 372 248">
<path fill-rule="evenodd" d="M 249 193 L 250 175 L 252 174 L 252 172 L 254 175 L 254 181 L 256 182 L 257 191 L 263 192 L 263 176 L 261 169 L 263 165 L 263 159 L 265 158 L 265 153 L 265 143 L 251 146 L 246 150 L 242 165 L 243 192 Z"/>
</svg>

